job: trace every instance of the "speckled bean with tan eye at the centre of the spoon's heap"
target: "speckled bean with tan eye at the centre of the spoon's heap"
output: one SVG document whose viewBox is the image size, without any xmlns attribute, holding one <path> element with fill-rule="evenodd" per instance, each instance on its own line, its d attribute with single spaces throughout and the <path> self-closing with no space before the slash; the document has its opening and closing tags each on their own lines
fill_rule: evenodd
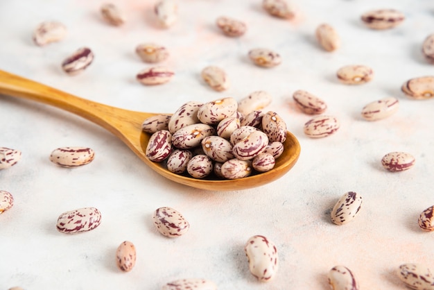
<svg viewBox="0 0 434 290">
<path fill-rule="evenodd" d="M 202 149 L 208 157 L 216 162 L 226 162 L 234 158 L 232 144 L 219 136 L 208 136 L 202 139 Z"/>
</svg>

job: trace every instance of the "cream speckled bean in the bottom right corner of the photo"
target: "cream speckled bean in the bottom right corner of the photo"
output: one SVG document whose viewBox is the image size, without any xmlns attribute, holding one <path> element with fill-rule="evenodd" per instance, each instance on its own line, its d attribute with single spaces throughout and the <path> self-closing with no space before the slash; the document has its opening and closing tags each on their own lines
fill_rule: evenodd
<svg viewBox="0 0 434 290">
<path fill-rule="evenodd" d="M 434 277 L 422 264 L 402 264 L 397 271 L 399 279 L 415 290 L 434 290 Z"/>
</svg>

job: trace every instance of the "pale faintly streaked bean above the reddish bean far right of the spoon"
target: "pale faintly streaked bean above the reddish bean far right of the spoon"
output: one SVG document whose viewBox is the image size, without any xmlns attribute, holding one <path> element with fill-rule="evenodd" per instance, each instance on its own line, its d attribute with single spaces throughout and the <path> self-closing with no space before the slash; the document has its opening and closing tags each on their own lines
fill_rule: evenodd
<svg viewBox="0 0 434 290">
<path fill-rule="evenodd" d="M 376 121 L 392 116 L 399 109 L 398 99 L 390 96 L 379 101 L 368 103 L 362 109 L 362 117 L 368 121 Z"/>
</svg>

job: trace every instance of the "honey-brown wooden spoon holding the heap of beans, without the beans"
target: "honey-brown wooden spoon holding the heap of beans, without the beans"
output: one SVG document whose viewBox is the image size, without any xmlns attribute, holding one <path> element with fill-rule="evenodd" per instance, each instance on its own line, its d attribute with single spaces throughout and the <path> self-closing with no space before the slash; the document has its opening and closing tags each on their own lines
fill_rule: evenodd
<svg viewBox="0 0 434 290">
<path fill-rule="evenodd" d="M 288 132 L 284 143 L 284 153 L 277 159 L 275 168 L 271 171 L 237 180 L 209 180 L 181 176 L 171 173 L 164 168 L 163 164 L 152 162 L 146 157 L 145 151 L 150 135 L 141 130 L 141 123 L 144 119 L 156 115 L 154 113 L 134 112 L 103 105 L 1 70 L 0 94 L 31 99 L 78 114 L 119 137 L 146 165 L 157 173 L 189 187 L 214 191 L 259 187 L 283 176 L 294 166 L 300 155 L 300 144 L 297 138 Z"/>
</svg>

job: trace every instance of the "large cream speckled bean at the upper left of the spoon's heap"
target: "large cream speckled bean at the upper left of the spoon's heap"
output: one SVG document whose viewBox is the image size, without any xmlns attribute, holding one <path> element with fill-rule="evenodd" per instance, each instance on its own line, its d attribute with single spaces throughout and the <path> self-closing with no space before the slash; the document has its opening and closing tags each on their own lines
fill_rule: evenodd
<svg viewBox="0 0 434 290">
<path fill-rule="evenodd" d="M 168 122 L 168 130 L 175 133 L 180 128 L 200 123 L 198 118 L 198 110 L 203 103 L 196 101 L 189 101 L 184 103 L 173 113 L 171 120 Z"/>
</svg>

